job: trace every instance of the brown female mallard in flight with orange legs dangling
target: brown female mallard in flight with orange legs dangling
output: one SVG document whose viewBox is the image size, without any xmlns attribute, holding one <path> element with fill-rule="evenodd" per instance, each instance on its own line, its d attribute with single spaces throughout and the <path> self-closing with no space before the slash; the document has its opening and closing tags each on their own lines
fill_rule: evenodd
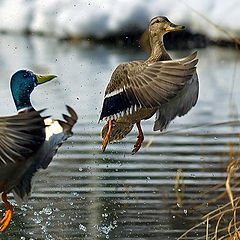
<svg viewBox="0 0 240 240">
<path fill-rule="evenodd" d="M 144 134 L 141 120 L 156 113 L 154 131 L 163 131 L 176 116 L 185 115 L 198 99 L 197 52 L 172 60 L 167 53 L 164 34 L 184 29 L 166 17 L 153 18 L 148 27 L 151 55 L 145 61 L 120 64 L 107 85 L 100 120 L 103 151 L 108 142 L 119 141 L 137 125 L 139 135 L 132 151 L 141 147 Z"/>
</svg>

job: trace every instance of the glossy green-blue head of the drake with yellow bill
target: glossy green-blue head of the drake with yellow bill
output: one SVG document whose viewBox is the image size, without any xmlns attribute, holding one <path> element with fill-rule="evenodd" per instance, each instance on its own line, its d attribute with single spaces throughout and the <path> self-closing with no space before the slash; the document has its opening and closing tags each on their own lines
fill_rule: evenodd
<svg viewBox="0 0 240 240">
<path fill-rule="evenodd" d="M 29 70 L 19 70 L 11 78 L 11 91 L 17 110 L 31 107 L 30 94 L 39 84 L 48 82 L 55 75 L 41 76 Z"/>
</svg>

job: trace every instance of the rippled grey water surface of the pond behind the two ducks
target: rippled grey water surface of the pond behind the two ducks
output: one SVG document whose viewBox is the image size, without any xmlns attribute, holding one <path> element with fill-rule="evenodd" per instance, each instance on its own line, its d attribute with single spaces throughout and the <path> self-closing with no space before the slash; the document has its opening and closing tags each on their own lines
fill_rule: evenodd
<svg viewBox="0 0 240 240">
<path fill-rule="evenodd" d="M 193 206 L 224 191 L 223 186 L 201 195 L 224 183 L 229 144 L 238 143 L 240 124 L 202 125 L 238 119 L 240 95 L 234 50 L 201 49 L 198 56 L 196 107 L 176 119 L 169 134 L 153 133 L 153 119 L 144 122 L 145 146 L 152 144 L 136 155 L 131 155 L 136 130 L 103 154 L 103 123 L 97 121 L 111 72 L 120 62 L 146 54 L 141 49 L 1 36 L 0 114 L 15 112 L 9 79 L 17 69 L 28 68 L 58 75 L 35 89 L 34 107 L 47 107 L 46 114 L 60 117 L 69 104 L 79 122 L 50 167 L 38 174 L 28 204 L 16 207 L 0 239 L 176 239 L 200 222 L 202 210 Z M 193 125 L 198 127 L 184 130 Z M 4 210 L 1 204 L 1 215 Z M 204 232 L 203 226 L 194 234 Z"/>
</svg>

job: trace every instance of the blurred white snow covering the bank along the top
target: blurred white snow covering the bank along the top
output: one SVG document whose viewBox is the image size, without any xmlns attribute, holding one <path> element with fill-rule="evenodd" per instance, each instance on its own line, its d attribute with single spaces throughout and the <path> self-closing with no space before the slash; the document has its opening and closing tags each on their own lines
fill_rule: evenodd
<svg viewBox="0 0 240 240">
<path fill-rule="evenodd" d="M 0 31 L 104 38 L 144 31 L 152 17 L 165 15 L 193 33 L 228 39 L 185 3 L 240 38 L 239 0 L 0 0 Z"/>
</svg>

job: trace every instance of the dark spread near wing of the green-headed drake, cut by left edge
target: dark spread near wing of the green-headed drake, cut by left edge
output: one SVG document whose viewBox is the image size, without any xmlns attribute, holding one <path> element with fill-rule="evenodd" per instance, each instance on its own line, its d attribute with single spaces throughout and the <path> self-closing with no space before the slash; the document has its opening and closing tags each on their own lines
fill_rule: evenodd
<svg viewBox="0 0 240 240">
<path fill-rule="evenodd" d="M 0 168 L 26 160 L 42 145 L 45 124 L 41 112 L 0 117 Z"/>
</svg>

